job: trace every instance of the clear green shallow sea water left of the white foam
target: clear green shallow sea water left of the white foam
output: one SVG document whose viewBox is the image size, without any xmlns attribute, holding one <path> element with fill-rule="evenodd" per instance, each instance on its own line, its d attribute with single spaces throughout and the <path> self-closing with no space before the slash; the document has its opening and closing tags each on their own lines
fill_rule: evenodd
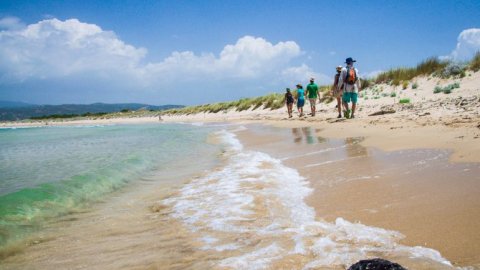
<svg viewBox="0 0 480 270">
<path fill-rule="evenodd" d="M 216 151 L 206 143 L 211 131 L 190 125 L 0 129 L 0 247 L 167 170 L 168 163 L 201 160 Z"/>
</svg>

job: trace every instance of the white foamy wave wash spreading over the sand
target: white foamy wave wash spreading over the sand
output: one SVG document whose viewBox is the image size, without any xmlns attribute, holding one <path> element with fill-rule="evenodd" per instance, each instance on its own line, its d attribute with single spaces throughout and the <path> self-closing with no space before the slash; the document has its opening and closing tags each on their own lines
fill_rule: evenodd
<svg viewBox="0 0 480 270">
<path fill-rule="evenodd" d="M 312 189 L 298 171 L 266 153 L 245 150 L 231 132 L 218 136 L 225 144 L 225 166 L 163 201 L 174 218 L 202 235 L 202 249 L 236 251 L 218 266 L 265 269 L 292 254 L 308 258 L 305 269 L 344 267 L 382 255 L 451 265 L 436 250 L 400 245 L 399 232 L 341 217 L 334 223 L 318 220 L 305 203 Z"/>
</svg>

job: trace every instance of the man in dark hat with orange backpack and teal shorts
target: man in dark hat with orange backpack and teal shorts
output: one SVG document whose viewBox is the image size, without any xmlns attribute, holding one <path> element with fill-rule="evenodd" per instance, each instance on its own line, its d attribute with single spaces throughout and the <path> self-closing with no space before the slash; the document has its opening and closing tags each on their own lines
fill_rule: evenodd
<svg viewBox="0 0 480 270">
<path fill-rule="evenodd" d="M 338 88 L 343 90 L 342 100 L 345 106 L 345 118 L 355 118 L 355 109 L 357 107 L 358 91 L 360 90 L 360 79 L 358 77 L 358 69 L 353 67 L 353 63 L 357 62 L 353 58 L 345 59 L 346 67 L 342 68 L 338 79 Z M 352 110 L 350 111 L 348 103 L 352 102 Z"/>
</svg>

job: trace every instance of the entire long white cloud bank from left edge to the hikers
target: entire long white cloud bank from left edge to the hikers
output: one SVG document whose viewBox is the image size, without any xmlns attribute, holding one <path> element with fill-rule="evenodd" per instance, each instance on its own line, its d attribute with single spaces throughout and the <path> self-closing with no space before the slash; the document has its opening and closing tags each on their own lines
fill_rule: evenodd
<svg viewBox="0 0 480 270">
<path fill-rule="evenodd" d="M 38 87 L 32 85 L 39 80 L 52 84 L 62 80 L 65 89 L 68 81 L 78 86 L 78 82 L 88 78 L 89 89 L 98 88 L 97 92 L 115 88 L 123 94 L 128 91 L 130 96 L 133 92 L 147 93 L 165 99 L 178 96 L 172 92 L 181 91 L 177 86 L 180 81 L 182 87 L 208 89 L 205 91 L 210 94 L 227 85 L 236 87 L 236 96 L 226 95 L 229 98 L 263 94 L 248 90 L 239 93 L 242 89 L 271 89 L 310 76 L 317 81 L 329 81 L 305 64 L 292 66 L 294 59 L 304 55 L 294 41 L 274 44 L 261 37 L 244 36 L 227 44 L 218 54 L 175 51 L 160 62 L 149 62 L 147 54 L 147 49 L 125 43 L 114 32 L 77 19 L 52 18 L 24 25 L 17 18 L 3 18 L 0 98 L 5 85 L 30 82 L 35 89 Z"/>
</svg>

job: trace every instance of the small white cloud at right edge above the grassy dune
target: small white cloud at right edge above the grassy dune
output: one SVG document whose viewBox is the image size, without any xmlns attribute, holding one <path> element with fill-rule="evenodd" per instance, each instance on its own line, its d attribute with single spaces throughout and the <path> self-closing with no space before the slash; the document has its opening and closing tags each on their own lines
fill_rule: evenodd
<svg viewBox="0 0 480 270">
<path fill-rule="evenodd" d="M 457 38 L 457 46 L 450 55 L 443 56 L 443 59 L 456 61 L 470 60 L 476 52 L 480 51 L 480 28 L 463 30 Z"/>
</svg>

